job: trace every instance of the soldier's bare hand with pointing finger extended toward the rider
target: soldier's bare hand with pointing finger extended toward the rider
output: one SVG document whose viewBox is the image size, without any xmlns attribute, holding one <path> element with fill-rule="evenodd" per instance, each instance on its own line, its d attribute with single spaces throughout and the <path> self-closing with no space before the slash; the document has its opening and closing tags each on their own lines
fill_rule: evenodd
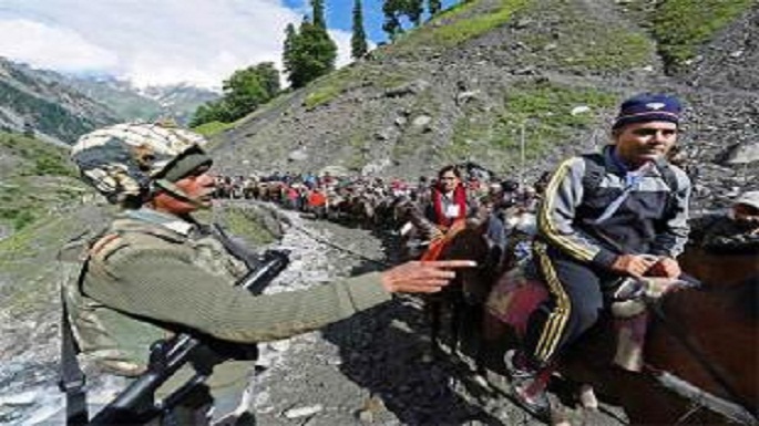
<svg viewBox="0 0 759 426">
<path fill-rule="evenodd" d="M 412 261 L 382 272 L 381 281 L 391 293 L 435 293 L 455 278 L 455 270 L 474 268 L 472 260 Z"/>
</svg>

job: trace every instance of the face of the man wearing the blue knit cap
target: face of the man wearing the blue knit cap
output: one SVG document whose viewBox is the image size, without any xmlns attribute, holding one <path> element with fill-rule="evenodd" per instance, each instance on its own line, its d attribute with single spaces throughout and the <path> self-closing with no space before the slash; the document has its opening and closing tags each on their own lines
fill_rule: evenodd
<svg viewBox="0 0 759 426">
<path fill-rule="evenodd" d="M 669 122 L 633 123 L 615 133 L 616 153 L 630 166 L 664 157 L 677 141 L 677 125 Z"/>
</svg>

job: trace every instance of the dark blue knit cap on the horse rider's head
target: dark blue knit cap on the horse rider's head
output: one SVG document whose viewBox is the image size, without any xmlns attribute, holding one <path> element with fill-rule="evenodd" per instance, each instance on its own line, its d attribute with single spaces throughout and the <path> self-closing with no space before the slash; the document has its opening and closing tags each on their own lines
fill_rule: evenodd
<svg viewBox="0 0 759 426">
<path fill-rule="evenodd" d="M 643 93 L 623 102 L 612 128 L 646 122 L 669 122 L 679 124 L 683 106 L 677 97 L 664 94 Z"/>
</svg>

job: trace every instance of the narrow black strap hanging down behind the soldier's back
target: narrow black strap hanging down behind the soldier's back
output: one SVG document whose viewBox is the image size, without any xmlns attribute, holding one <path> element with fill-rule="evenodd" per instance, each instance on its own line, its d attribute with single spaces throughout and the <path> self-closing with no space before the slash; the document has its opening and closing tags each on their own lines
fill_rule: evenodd
<svg viewBox="0 0 759 426">
<path fill-rule="evenodd" d="M 85 376 L 79 365 L 76 354 L 79 347 L 69 322 L 64 289 L 61 289 L 61 370 L 58 387 L 65 393 L 66 426 L 83 426 L 88 424 L 90 414 L 86 406 Z"/>
</svg>

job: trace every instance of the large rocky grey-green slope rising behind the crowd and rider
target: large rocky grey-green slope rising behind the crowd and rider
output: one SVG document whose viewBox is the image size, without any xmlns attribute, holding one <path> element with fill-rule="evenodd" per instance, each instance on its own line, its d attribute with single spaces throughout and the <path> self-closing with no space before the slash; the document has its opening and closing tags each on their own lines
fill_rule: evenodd
<svg viewBox="0 0 759 426">
<path fill-rule="evenodd" d="M 719 198 L 757 185 L 758 21 L 755 1 L 468 2 L 275 100 L 217 136 L 216 156 L 230 173 L 414 178 L 474 160 L 507 176 L 524 138 L 535 177 L 605 144 L 620 100 L 664 91 L 687 105 L 698 197 Z"/>
</svg>

